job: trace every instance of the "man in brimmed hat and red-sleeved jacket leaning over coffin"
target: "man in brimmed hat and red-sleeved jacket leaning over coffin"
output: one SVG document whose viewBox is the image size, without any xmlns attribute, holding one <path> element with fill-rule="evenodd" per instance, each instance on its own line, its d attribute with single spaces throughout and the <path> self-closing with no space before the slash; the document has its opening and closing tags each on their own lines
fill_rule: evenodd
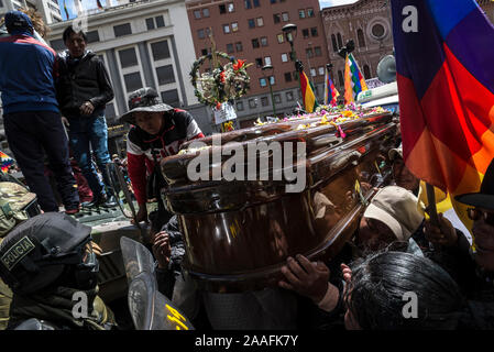
<svg viewBox="0 0 494 352">
<path fill-rule="evenodd" d="M 146 221 L 146 173 L 152 174 L 155 161 L 175 155 L 182 143 L 204 134 L 190 113 L 160 102 L 153 88 L 133 91 L 129 110 L 120 118 L 133 124 L 127 138 L 128 170 L 139 204 L 136 220 Z"/>
</svg>

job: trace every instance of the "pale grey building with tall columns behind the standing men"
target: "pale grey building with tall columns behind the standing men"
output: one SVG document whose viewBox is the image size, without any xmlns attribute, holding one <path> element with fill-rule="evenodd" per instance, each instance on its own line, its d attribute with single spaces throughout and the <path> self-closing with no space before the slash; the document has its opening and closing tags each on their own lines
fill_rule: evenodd
<svg viewBox="0 0 494 352">
<path fill-rule="evenodd" d="M 51 25 L 47 42 L 55 51 L 65 50 L 62 34 L 68 25 Z M 188 77 L 195 54 L 184 0 L 135 1 L 92 11 L 86 32 L 87 47 L 105 62 L 114 90 L 106 111 L 109 125 L 128 111 L 131 91 L 153 87 L 164 102 L 188 110 L 206 134 L 211 132 L 209 111 L 198 103 Z"/>
</svg>

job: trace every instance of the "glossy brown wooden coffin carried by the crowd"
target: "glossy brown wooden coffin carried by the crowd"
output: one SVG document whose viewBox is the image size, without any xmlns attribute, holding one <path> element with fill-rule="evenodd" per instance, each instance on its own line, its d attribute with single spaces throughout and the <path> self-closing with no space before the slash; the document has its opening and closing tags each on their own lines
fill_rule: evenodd
<svg viewBox="0 0 494 352">
<path fill-rule="evenodd" d="M 221 135 L 223 143 L 238 142 L 245 151 L 260 141 L 305 142 L 306 186 L 300 193 L 287 193 L 289 182 L 272 177 L 189 180 L 187 166 L 200 152 L 227 148 L 211 146 L 211 138 L 199 140 L 208 146 L 162 162 L 169 183 L 164 193 L 167 207 L 178 215 L 185 237 L 184 268 L 207 289 L 238 292 L 276 285 L 287 256 L 300 253 L 327 260 L 351 238 L 364 209 L 362 200 L 373 196 L 370 186 L 381 186 L 391 174 L 387 151 L 394 146 L 396 124 L 387 112 L 369 116 L 342 123 L 342 139 L 333 125 L 317 123 L 320 120 Z M 297 130 L 300 123 L 311 122 L 316 125 Z M 222 157 L 222 166 L 229 157 Z M 270 176 L 275 166 L 270 158 Z"/>
</svg>

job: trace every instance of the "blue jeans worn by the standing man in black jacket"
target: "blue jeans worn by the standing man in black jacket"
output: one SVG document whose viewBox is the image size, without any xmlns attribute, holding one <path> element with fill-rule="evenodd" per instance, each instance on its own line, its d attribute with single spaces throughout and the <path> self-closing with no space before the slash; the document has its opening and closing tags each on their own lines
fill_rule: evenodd
<svg viewBox="0 0 494 352">
<path fill-rule="evenodd" d="M 68 132 L 70 150 L 92 190 L 94 199 L 106 196 L 105 186 L 111 193 L 111 189 L 109 189 L 111 184 L 107 175 L 110 154 L 108 152 L 108 129 L 105 110 L 95 111 L 90 117 L 68 116 L 67 120 L 70 124 Z M 94 166 L 91 150 L 105 184 L 98 177 Z"/>
</svg>

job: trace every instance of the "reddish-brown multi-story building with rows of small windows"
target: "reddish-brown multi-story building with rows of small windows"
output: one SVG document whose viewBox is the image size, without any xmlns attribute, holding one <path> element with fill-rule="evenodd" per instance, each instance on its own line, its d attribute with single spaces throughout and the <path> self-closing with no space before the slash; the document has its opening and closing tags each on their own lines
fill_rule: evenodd
<svg viewBox="0 0 494 352">
<path fill-rule="evenodd" d="M 297 25 L 296 56 L 322 98 L 328 53 L 318 0 L 186 0 L 186 4 L 197 57 L 210 53 L 212 38 L 217 51 L 254 64 L 248 68 L 251 89 L 235 101 L 241 125 L 273 114 L 267 79 L 276 114 L 292 113 L 297 101 L 301 103 L 290 45 L 282 31 L 288 23 Z M 273 72 L 263 74 L 265 65 Z"/>
</svg>

